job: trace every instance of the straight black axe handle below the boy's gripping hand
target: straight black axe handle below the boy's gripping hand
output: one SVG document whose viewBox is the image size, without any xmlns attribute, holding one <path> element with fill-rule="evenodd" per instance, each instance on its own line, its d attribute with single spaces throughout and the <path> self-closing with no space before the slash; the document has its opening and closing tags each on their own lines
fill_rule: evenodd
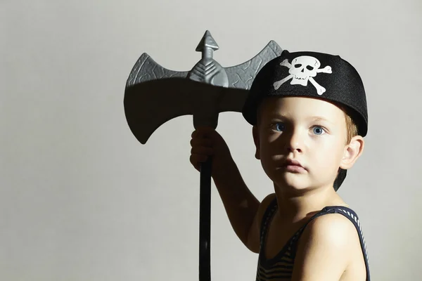
<svg viewBox="0 0 422 281">
<path fill-rule="evenodd" d="M 200 165 L 199 281 L 211 280 L 211 166 L 211 157 Z"/>
</svg>

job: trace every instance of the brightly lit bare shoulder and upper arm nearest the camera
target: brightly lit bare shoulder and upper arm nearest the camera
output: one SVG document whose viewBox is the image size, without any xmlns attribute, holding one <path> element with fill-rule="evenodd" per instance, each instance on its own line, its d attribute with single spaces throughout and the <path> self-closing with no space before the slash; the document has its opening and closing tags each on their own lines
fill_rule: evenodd
<svg viewBox="0 0 422 281">
<path fill-rule="evenodd" d="M 341 214 L 314 218 L 303 231 L 296 250 L 293 281 L 338 281 L 353 262 L 359 237 Z M 357 248 L 358 247 L 358 248 Z"/>
</svg>

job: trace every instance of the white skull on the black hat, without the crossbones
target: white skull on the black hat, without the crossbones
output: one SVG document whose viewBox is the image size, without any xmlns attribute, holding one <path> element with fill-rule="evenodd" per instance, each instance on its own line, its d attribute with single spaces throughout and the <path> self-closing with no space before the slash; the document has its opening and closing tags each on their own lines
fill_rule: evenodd
<svg viewBox="0 0 422 281">
<path fill-rule="evenodd" d="M 288 73 L 293 74 L 290 84 L 307 86 L 309 77 L 316 77 L 316 70 L 319 69 L 321 63 L 316 58 L 302 55 L 293 59 L 291 65 L 292 67 L 288 70 Z"/>
</svg>

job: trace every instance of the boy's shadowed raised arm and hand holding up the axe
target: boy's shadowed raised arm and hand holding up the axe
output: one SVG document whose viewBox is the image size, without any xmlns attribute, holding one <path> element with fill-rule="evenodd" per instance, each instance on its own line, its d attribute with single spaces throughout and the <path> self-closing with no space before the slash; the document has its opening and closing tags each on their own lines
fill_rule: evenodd
<svg viewBox="0 0 422 281">
<path fill-rule="evenodd" d="M 212 178 L 231 226 L 243 244 L 257 253 L 263 205 L 243 181 L 224 139 L 214 129 L 200 128 L 192 133 L 191 146 L 191 164 L 198 170 L 200 162 L 212 156 Z"/>
</svg>

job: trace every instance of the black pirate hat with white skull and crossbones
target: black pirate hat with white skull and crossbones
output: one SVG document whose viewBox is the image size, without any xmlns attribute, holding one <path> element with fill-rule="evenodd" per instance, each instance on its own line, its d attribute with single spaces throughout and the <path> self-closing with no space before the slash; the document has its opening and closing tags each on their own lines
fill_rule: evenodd
<svg viewBox="0 0 422 281">
<path fill-rule="evenodd" d="M 284 50 L 258 72 L 243 105 L 243 117 L 257 122 L 257 108 L 269 96 L 307 96 L 343 105 L 357 125 L 358 134 L 366 136 L 368 110 L 361 77 L 350 63 L 339 55 Z M 340 188 L 346 177 L 340 169 L 334 189 Z"/>
</svg>

